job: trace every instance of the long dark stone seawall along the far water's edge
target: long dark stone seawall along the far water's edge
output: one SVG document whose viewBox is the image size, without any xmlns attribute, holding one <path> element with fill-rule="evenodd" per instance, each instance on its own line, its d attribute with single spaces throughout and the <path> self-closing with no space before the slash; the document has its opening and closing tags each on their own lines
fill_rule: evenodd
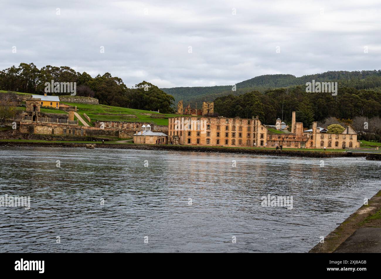
<svg viewBox="0 0 381 279">
<path fill-rule="evenodd" d="M 43 146 L 43 147 L 81 147 L 86 148 L 89 143 L 61 143 L 61 142 L 27 142 L 27 141 L 0 141 L 1 146 Z M 330 152 L 330 151 L 298 151 L 275 149 L 250 149 L 239 147 L 213 147 L 213 146 L 183 146 L 183 145 L 157 145 L 157 144 L 114 144 L 94 143 L 95 148 L 103 149 L 134 149 L 154 151 L 183 151 L 183 152 L 211 152 L 231 154 L 271 155 L 288 157 L 335 158 L 335 157 L 366 157 L 367 153 Z"/>
</svg>

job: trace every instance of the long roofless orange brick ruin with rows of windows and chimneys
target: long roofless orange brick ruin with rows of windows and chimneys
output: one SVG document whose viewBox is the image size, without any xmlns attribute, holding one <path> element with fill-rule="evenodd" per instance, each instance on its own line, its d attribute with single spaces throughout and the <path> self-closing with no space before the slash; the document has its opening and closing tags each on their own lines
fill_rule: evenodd
<svg viewBox="0 0 381 279">
<path fill-rule="evenodd" d="M 275 124 L 282 130 L 280 123 Z M 280 126 L 279 126 L 279 125 Z M 283 127 L 285 128 L 285 127 Z M 346 127 L 341 134 L 328 134 L 313 122 L 311 130 L 295 121 L 292 113 L 291 132 L 271 133 L 258 116 L 252 119 L 224 117 L 172 117 L 168 122 L 168 142 L 200 146 L 276 147 L 311 149 L 343 149 L 360 147 L 357 134 Z"/>
</svg>

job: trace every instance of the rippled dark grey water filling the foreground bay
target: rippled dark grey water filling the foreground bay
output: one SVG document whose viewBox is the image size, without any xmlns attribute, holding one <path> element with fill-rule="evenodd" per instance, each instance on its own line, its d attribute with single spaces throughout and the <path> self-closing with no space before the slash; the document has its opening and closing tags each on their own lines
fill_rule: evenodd
<svg viewBox="0 0 381 279">
<path fill-rule="evenodd" d="M 381 162 L 320 163 L 0 147 L 0 196 L 30 196 L 29 210 L 0 207 L 0 251 L 307 252 L 381 189 Z M 293 209 L 261 206 L 268 194 L 293 196 Z"/>
</svg>

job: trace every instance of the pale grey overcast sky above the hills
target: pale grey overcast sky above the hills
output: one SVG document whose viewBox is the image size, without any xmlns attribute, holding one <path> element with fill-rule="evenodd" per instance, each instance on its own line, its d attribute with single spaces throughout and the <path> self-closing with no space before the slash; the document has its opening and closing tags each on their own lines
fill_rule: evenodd
<svg viewBox="0 0 381 279">
<path fill-rule="evenodd" d="M 69 66 L 128 87 L 378 70 L 380 17 L 380 0 L 0 0 L 0 69 Z"/>
</svg>

